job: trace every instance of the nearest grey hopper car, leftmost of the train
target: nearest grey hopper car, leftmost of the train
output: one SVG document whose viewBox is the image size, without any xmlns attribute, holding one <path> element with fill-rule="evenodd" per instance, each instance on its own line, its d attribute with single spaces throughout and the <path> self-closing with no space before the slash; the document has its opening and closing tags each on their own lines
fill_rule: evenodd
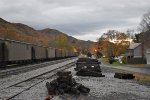
<svg viewBox="0 0 150 100">
<path fill-rule="evenodd" d="M 31 44 L 2 40 L 0 44 L 1 63 L 23 63 L 31 61 Z"/>
</svg>

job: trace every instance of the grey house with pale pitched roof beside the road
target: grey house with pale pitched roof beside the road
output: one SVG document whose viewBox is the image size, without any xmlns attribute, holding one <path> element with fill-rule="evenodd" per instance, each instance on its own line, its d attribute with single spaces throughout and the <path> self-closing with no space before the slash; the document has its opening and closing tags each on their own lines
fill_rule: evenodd
<svg viewBox="0 0 150 100">
<path fill-rule="evenodd" d="M 130 64 L 146 63 L 144 47 L 141 43 L 131 43 L 128 48 L 127 62 Z"/>
</svg>

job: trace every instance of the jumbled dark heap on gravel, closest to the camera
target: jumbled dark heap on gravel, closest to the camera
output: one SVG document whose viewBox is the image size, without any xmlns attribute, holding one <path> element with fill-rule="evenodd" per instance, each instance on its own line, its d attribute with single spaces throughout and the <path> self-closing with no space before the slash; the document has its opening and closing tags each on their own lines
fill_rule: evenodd
<svg viewBox="0 0 150 100">
<path fill-rule="evenodd" d="M 75 79 L 72 78 L 70 71 L 58 72 L 57 76 L 57 79 L 50 83 L 46 83 L 49 95 L 59 95 L 64 93 L 80 94 L 90 92 L 89 88 L 80 83 L 76 83 Z"/>
</svg>

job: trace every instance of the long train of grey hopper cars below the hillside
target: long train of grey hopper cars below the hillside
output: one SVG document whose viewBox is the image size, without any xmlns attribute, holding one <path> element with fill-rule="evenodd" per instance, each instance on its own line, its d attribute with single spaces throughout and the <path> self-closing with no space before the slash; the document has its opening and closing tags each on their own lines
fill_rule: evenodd
<svg viewBox="0 0 150 100">
<path fill-rule="evenodd" d="M 77 56 L 77 53 L 73 50 L 62 50 L 0 38 L 0 67 L 8 64 L 26 64 L 74 56 Z"/>
</svg>

